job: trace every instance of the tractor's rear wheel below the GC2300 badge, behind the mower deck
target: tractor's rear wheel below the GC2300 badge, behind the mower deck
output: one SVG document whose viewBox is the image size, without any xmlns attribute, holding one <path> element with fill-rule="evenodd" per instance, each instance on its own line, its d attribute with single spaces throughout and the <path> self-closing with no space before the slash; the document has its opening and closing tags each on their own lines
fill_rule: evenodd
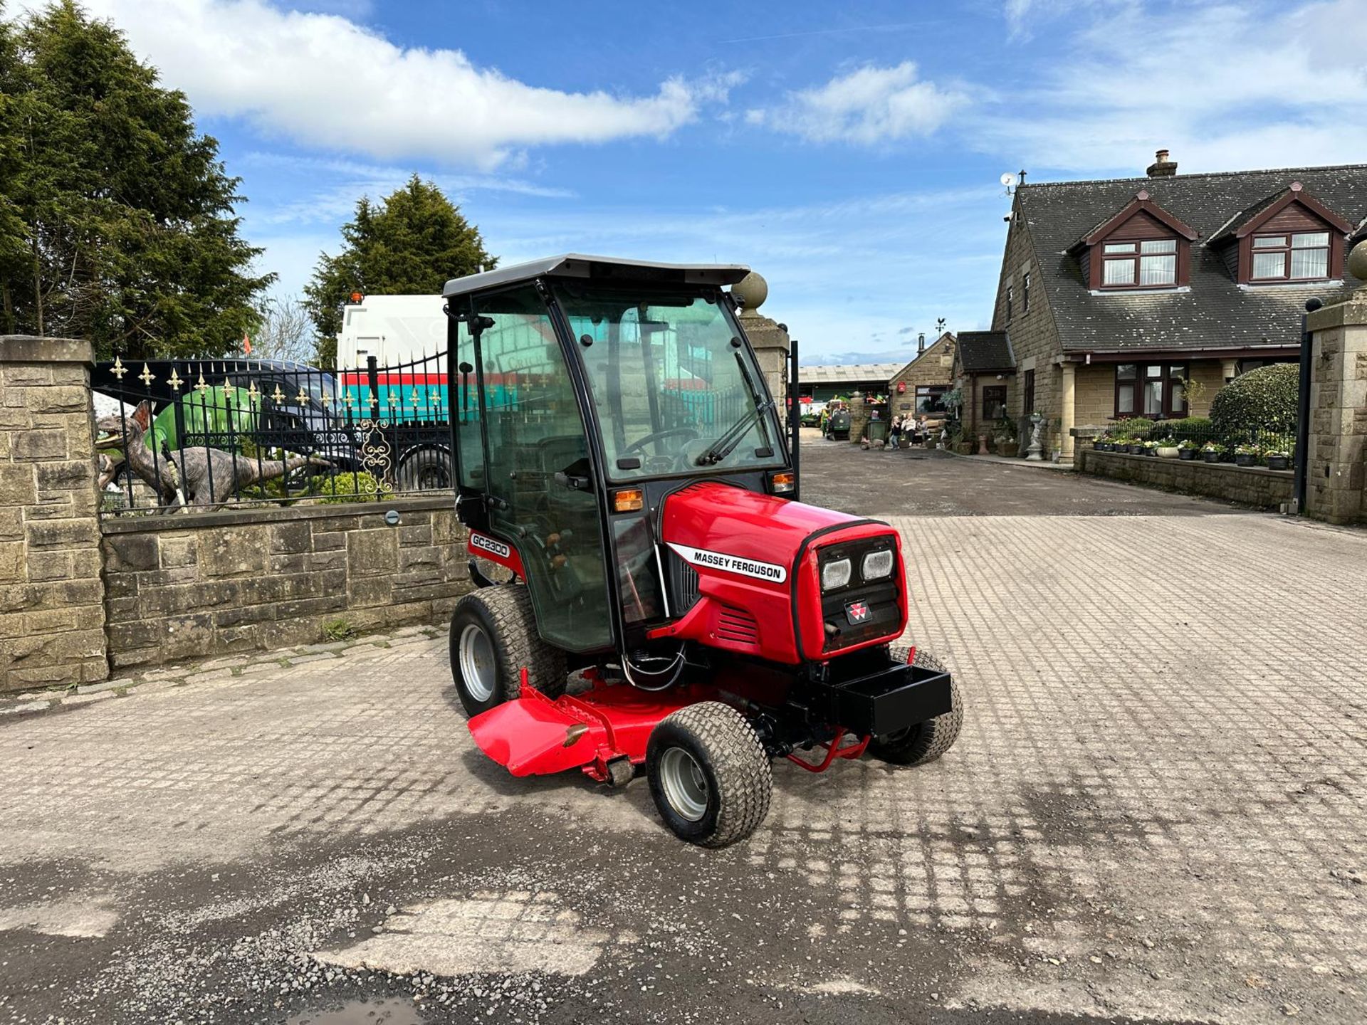
<svg viewBox="0 0 1367 1025">
<path fill-rule="evenodd" d="M 480 588 L 451 614 L 451 678 L 465 713 L 515 698 L 528 682 L 547 697 L 565 693 L 565 652 L 536 631 L 532 596 L 521 584 Z"/>
</svg>

